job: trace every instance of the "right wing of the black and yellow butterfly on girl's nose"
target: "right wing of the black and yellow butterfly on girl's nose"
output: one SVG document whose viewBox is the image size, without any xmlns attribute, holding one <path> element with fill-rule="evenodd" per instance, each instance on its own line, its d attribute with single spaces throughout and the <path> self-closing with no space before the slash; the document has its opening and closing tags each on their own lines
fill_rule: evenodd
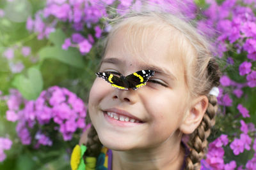
<svg viewBox="0 0 256 170">
<path fill-rule="evenodd" d="M 138 89 L 139 87 L 143 87 L 146 85 L 148 78 L 154 76 L 154 71 L 152 70 L 141 70 L 135 73 L 129 74 L 125 77 L 125 80 L 128 83 L 128 88 L 132 88 L 133 90 Z"/>
</svg>

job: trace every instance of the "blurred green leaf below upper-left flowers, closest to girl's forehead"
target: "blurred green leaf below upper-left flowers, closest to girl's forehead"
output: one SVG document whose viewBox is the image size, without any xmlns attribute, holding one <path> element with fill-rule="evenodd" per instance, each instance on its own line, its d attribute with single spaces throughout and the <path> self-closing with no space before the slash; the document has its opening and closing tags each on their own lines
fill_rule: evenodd
<svg viewBox="0 0 256 170">
<path fill-rule="evenodd" d="M 76 48 L 69 48 L 68 50 L 63 50 L 61 48 L 65 38 L 65 34 L 60 29 L 52 32 L 49 39 L 52 41 L 52 43 L 54 43 L 54 46 L 42 48 L 38 53 L 40 60 L 51 58 L 60 60 L 61 62 L 69 64 L 70 66 L 79 68 L 85 67 L 83 57 Z"/>
</svg>

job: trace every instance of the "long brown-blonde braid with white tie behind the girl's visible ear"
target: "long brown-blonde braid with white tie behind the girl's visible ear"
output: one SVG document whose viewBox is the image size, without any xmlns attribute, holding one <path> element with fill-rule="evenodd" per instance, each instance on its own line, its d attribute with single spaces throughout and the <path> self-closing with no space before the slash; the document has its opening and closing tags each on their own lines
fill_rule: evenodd
<svg viewBox="0 0 256 170">
<path fill-rule="evenodd" d="M 211 59 L 207 65 L 208 81 L 212 87 L 220 85 L 220 70 L 214 59 Z M 209 90 L 207 90 L 209 92 Z M 211 127 L 215 124 L 215 115 L 218 110 L 218 101 L 216 96 L 207 95 L 209 104 L 205 111 L 204 117 L 200 125 L 190 135 L 189 148 L 190 153 L 186 158 L 186 169 L 200 169 L 202 160 L 207 152 L 207 138 L 211 134 Z"/>
</svg>

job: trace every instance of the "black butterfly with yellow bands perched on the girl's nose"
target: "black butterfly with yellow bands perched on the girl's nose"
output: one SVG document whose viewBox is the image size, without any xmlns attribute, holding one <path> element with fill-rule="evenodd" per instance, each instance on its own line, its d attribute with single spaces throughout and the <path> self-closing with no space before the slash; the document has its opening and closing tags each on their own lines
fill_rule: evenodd
<svg viewBox="0 0 256 170">
<path fill-rule="evenodd" d="M 143 87 L 146 85 L 148 78 L 154 76 L 155 71 L 152 70 L 141 70 L 135 73 L 129 74 L 128 76 L 115 76 L 111 72 L 99 72 L 96 75 L 99 78 L 103 78 L 108 81 L 111 86 L 116 87 L 122 90 L 128 90 L 132 88 L 133 90 L 138 89 L 139 87 Z"/>
</svg>

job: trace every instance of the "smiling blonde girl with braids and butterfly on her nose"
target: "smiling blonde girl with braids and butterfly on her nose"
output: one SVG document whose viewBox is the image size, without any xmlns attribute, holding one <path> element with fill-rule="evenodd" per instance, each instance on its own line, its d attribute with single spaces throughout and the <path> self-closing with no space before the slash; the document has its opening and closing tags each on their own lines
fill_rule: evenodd
<svg viewBox="0 0 256 170">
<path fill-rule="evenodd" d="M 220 79 L 205 38 L 170 13 L 140 11 L 120 18 L 107 40 L 90 91 L 92 127 L 72 169 L 84 169 L 83 161 L 86 170 L 200 169 Z M 132 73 L 147 84 L 124 90 L 112 79 Z"/>
</svg>

